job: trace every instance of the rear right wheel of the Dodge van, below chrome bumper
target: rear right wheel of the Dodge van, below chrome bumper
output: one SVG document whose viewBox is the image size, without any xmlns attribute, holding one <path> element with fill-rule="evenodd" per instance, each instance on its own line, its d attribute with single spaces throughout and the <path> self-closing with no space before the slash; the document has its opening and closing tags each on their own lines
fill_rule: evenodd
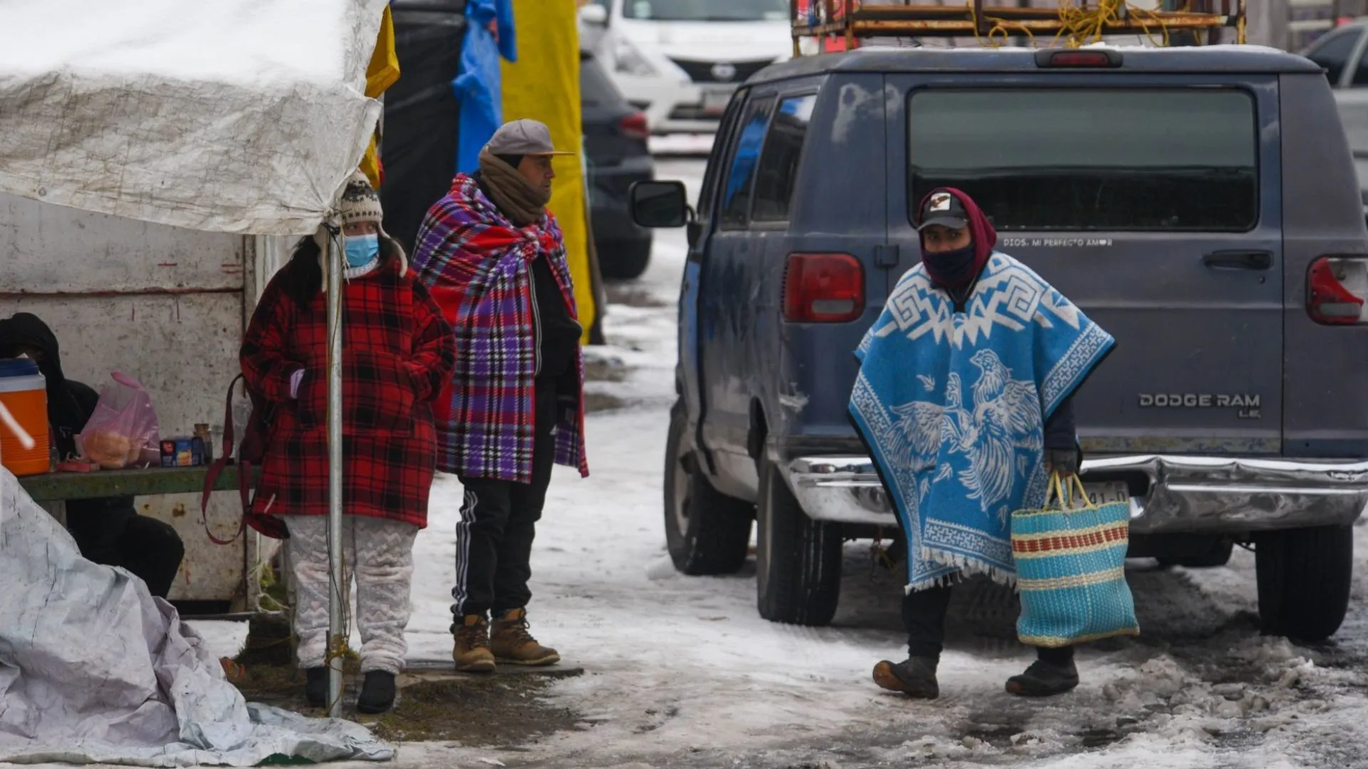
<svg viewBox="0 0 1368 769">
<path fill-rule="evenodd" d="M 1354 535 L 1347 525 L 1267 531 L 1254 536 L 1259 616 L 1267 635 L 1324 640 L 1349 609 Z"/>
</svg>

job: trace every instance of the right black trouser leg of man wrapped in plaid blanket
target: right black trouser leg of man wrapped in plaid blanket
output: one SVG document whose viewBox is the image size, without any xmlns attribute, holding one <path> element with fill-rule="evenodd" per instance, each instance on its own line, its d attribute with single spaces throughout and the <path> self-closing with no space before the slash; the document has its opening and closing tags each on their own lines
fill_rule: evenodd
<svg viewBox="0 0 1368 769">
<path fill-rule="evenodd" d="M 498 568 L 494 573 L 494 605 L 497 614 L 521 609 L 532 599 L 528 580 L 532 579 L 532 540 L 536 521 L 542 520 L 546 490 L 551 484 L 555 467 L 557 398 L 554 384 L 543 382 L 536 387 L 536 435 L 532 443 L 532 483 L 510 487 L 510 512 L 503 539 L 499 542 Z"/>
</svg>

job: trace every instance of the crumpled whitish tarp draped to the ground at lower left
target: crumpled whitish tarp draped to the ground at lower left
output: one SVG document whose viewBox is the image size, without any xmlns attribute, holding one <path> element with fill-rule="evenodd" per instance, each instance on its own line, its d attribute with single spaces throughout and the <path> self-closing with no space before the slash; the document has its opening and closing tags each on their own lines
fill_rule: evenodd
<svg viewBox="0 0 1368 769">
<path fill-rule="evenodd" d="M 170 603 L 0 468 L 0 762 L 253 766 L 394 757 L 350 721 L 249 705 Z"/>
</svg>

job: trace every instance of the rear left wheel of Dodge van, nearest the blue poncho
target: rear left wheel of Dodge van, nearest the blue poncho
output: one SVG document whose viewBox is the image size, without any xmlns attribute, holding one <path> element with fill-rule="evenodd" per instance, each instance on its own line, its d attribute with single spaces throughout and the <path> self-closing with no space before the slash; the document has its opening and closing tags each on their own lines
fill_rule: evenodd
<svg viewBox="0 0 1368 769">
<path fill-rule="evenodd" d="M 826 625 L 841 592 L 841 525 L 814 521 L 798 505 L 774 462 L 761 460 L 755 506 L 755 595 L 774 623 Z"/>
</svg>

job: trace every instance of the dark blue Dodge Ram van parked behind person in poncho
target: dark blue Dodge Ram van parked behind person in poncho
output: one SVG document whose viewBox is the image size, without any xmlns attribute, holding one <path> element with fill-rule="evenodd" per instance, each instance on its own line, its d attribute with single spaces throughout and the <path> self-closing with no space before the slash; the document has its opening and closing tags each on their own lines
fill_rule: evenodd
<svg viewBox="0 0 1368 769">
<path fill-rule="evenodd" d="M 1332 635 L 1368 502 L 1368 231 L 1323 71 L 1250 47 L 866 48 L 752 77 L 696 208 L 677 182 L 633 190 L 640 224 L 691 246 L 676 566 L 740 568 L 754 519 L 761 614 L 819 625 L 843 542 L 896 535 L 847 417 L 852 352 L 943 185 L 1116 337 L 1074 409 L 1089 493 L 1131 504 L 1131 554 L 1250 546 L 1264 629 Z"/>
</svg>

